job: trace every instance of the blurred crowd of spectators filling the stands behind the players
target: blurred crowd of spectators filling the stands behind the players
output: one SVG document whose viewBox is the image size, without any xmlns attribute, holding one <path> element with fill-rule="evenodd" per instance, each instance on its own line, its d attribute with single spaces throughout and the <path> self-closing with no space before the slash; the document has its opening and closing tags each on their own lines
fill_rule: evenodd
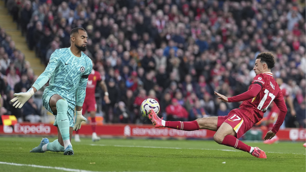
<svg viewBox="0 0 306 172">
<path fill-rule="evenodd" d="M 256 55 L 271 51 L 272 73 L 294 106 L 285 126 L 306 127 L 304 0 L 6 0 L 6 6 L 46 65 L 54 50 L 69 47 L 72 28 L 86 29 L 84 53 L 108 86 L 111 103 L 101 100 L 105 122 L 150 122 L 139 111 L 146 98 L 159 102 L 167 120 L 227 115 L 240 103 L 225 104 L 214 91 L 245 92 Z M 39 94 L 23 114 L 10 105 L 13 93 L 27 90 L 36 76 L 3 29 L 0 39 L 2 114 L 31 113 L 24 119 L 37 120 Z M 103 97 L 101 88 L 96 92 Z"/>
</svg>

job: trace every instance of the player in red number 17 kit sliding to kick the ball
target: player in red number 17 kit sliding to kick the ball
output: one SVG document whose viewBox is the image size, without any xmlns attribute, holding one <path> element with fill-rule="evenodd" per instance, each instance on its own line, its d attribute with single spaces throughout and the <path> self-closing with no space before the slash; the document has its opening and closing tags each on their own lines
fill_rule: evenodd
<svg viewBox="0 0 306 172">
<path fill-rule="evenodd" d="M 198 129 L 213 130 L 216 131 L 214 140 L 218 144 L 249 152 L 257 158 L 267 158 L 264 151 L 244 144 L 238 138 L 263 118 L 263 113 L 272 101 L 279 108 L 278 119 L 273 129 L 267 132 L 264 139 L 273 138 L 285 119 L 287 107 L 282 92 L 271 73 L 271 68 L 274 67 L 274 64 L 273 54 L 270 52 L 260 53 L 256 57 L 253 68 L 256 77 L 254 77 L 247 92 L 229 98 L 215 92 L 215 95 L 219 96 L 218 99 L 221 99 L 223 102 L 243 101 L 239 108 L 233 109 L 227 116 L 199 118 L 190 122 L 172 122 L 160 119 L 153 110 L 149 110 L 149 119 L 155 127 L 168 127 L 185 131 Z"/>
</svg>

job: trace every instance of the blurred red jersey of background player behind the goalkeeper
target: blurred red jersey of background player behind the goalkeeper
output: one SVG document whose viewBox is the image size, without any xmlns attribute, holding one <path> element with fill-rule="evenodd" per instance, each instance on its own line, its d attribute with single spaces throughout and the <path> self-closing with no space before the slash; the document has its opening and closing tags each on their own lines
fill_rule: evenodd
<svg viewBox="0 0 306 172">
<path fill-rule="evenodd" d="M 90 75 L 88 76 L 85 99 L 89 97 L 95 97 L 95 88 L 97 86 L 97 82 L 101 80 L 102 78 L 100 73 L 92 69 Z"/>
</svg>

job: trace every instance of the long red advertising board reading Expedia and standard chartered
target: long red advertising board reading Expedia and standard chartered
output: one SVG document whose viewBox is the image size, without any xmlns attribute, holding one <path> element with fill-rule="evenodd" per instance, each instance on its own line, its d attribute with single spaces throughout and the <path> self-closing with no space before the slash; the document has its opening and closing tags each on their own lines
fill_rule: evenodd
<svg viewBox="0 0 306 172">
<path fill-rule="evenodd" d="M 79 134 L 91 135 L 91 126 L 82 125 Z M 263 137 L 267 130 L 263 130 Z M 57 128 L 52 124 L 44 123 L 17 123 L 12 126 L 0 125 L 0 134 L 18 135 L 57 135 Z M 186 137 L 211 139 L 215 132 L 200 129 L 196 131 L 183 131 L 170 128 L 154 128 L 152 125 L 113 124 L 98 125 L 97 135 L 122 137 Z M 306 129 L 287 128 L 279 130 L 277 136 L 280 140 L 306 140 Z"/>
</svg>

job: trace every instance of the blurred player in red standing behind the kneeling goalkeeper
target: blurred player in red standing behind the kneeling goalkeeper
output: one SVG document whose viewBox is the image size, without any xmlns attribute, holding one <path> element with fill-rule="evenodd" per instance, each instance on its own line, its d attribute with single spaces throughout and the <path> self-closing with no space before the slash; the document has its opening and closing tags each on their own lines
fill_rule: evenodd
<svg viewBox="0 0 306 172">
<path fill-rule="evenodd" d="M 92 66 L 94 68 L 95 63 L 92 62 Z M 85 100 L 83 103 L 83 111 L 82 114 L 84 115 L 87 112 L 90 113 L 90 118 L 91 118 L 91 129 L 92 129 L 92 141 L 98 141 L 100 140 L 100 137 L 97 136 L 96 133 L 96 120 L 95 120 L 95 114 L 97 111 L 97 104 L 95 100 L 95 88 L 97 86 L 97 83 L 100 84 L 101 88 L 104 91 L 104 101 L 106 104 L 110 102 L 110 99 L 108 98 L 108 92 L 107 92 L 107 87 L 105 82 L 102 80 L 101 75 L 98 71 L 92 69 L 91 74 L 88 76 L 88 82 L 86 86 L 86 96 Z M 74 135 L 74 141 L 80 142 L 80 136 L 79 136 L 79 131 L 76 131 L 76 134 Z"/>
</svg>

